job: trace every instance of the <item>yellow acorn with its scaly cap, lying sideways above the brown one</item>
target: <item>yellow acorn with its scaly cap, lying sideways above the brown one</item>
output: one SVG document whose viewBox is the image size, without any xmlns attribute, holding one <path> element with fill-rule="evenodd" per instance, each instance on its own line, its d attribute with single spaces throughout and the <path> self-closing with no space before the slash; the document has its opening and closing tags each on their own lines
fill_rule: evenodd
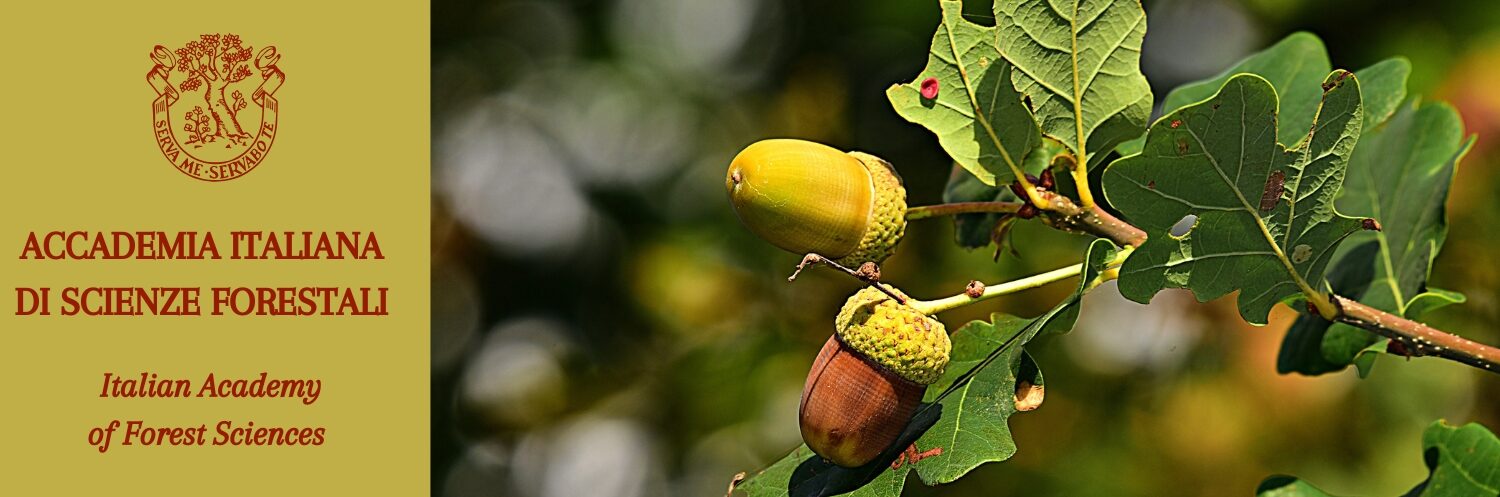
<svg viewBox="0 0 1500 497">
<path fill-rule="evenodd" d="M 729 203 L 754 234 L 844 266 L 880 263 L 906 233 L 906 188 L 890 162 L 806 140 L 762 140 L 729 162 Z"/>
</svg>

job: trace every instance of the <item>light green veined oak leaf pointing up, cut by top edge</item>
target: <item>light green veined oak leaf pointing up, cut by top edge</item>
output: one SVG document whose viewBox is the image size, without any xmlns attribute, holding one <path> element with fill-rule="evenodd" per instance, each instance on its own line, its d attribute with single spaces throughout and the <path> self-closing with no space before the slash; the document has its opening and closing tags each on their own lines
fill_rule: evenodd
<svg viewBox="0 0 1500 497">
<path fill-rule="evenodd" d="M 1041 131 L 1082 164 L 1140 135 L 1150 84 L 1140 72 L 1146 11 L 1137 0 L 994 2 L 998 47 L 1030 98 Z"/>
</svg>

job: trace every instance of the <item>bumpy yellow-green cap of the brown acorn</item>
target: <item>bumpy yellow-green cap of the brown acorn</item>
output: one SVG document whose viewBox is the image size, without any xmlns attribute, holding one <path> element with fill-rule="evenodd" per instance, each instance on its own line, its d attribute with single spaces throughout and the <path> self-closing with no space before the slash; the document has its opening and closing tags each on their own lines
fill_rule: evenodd
<svg viewBox="0 0 1500 497">
<path fill-rule="evenodd" d="M 952 344 L 942 323 L 879 288 L 866 287 L 849 297 L 834 329 L 849 348 L 909 381 L 932 384 L 948 368 Z"/>
</svg>

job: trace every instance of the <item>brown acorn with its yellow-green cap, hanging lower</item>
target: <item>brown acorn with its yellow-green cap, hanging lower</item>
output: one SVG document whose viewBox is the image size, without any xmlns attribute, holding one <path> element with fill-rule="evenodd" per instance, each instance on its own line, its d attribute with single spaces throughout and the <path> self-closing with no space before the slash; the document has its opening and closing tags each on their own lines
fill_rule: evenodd
<svg viewBox="0 0 1500 497">
<path fill-rule="evenodd" d="M 798 420 L 813 452 L 860 467 L 902 435 L 951 344 L 942 323 L 874 287 L 849 297 L 834 330 L 802 384 Z"/>
</svg>

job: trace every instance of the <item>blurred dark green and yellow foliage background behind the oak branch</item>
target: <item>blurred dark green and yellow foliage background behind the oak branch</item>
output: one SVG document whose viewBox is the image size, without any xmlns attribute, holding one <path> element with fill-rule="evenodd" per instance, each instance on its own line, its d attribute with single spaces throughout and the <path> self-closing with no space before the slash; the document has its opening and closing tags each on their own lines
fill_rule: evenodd
<svg viewBox="0 0 1500 497">
<path fill-rule="evenodd" d="M 970 2 L 974 20 L 988 3 Z M 1334 65 L 1402 54 L 1412 95 L 1454 102 L 1479 143 L 1449 201 L 1434 324 L 1500 342 L 1500 3 L 1161 0 L 1142 69 L 1158 101 L 1311 30 Z M 432 6 L 432 491 L 722 495 L 800 443 L 796 402 L 856 285 L 754 239 L 723 174 L 770 137 L 866 150 L 912 204 L 940 200 L 936 140 L 884 89 L 921 71 L 938 6 L 910 0 L 438 0 Z M 1076 263 L 1086 240 L 1022 225 L 1018 252 L 910 225 L 885 279 L 918 297 Z M 1068 284 L 942 315 L 1035 315 Z M 908 495 L 1232 495 L 1272 473 L 1392 495 L 1425 476 L 1431 420 L 1500 428 L 1500 377 L 1384 356 L 1374 374 L 1275 374 L 1293 312 L 1092 293 L 1032 347 L 1047 401 L 1020 452 Z"/>
</svg>

